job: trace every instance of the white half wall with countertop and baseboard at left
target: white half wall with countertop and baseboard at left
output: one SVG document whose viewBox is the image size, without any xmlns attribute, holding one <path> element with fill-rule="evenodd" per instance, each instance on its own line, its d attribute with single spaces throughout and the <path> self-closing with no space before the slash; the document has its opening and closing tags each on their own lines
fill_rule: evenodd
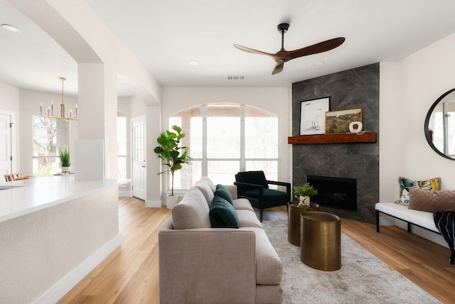
<svg viewBox="0 0 455 304">
<path fill-rule="evenodd" d="M 118 248 L 124 182 L 74 175 L 0 182 L 0 303 L 57 303 Z"/>
</svg>

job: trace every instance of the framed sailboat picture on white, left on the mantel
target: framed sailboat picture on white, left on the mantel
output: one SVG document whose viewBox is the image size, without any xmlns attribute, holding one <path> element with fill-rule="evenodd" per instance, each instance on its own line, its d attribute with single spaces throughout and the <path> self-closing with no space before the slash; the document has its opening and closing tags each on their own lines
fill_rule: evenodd
<svg viewBox="0 0 455 304">
<path fill-rule="evenodd" d="M 324 118 L 330 97 L 311 99 L 300 103 L 300 135 L 324 134 Z"/>
</svg>

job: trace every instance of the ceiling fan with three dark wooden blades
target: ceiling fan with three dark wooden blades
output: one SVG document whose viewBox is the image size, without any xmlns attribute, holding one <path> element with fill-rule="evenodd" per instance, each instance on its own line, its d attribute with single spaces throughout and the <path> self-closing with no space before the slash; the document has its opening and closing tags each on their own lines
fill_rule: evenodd
<svg viewBox="0 0 455 304">
<path fill-rule="evenodd" d="M 282 34 L 282 49 L 279 50 L 277 53 L 265 53 L 262 52 L 261 50 L 253 50 L 252 48 L 246 48 L 245 46 L 234 44 L 235 48 L 238 48 L 239 50 L 244 50 L 245 52 L 248 53 L 253 53 L 253 54 L 259 54 L 259 55 L 267 55 L 272 57 L 273 60 L 275 60 L 275 65 L 272 75 L 277 74 L 283 70 L 284 63 L 287 61 L 294 59 L 294 58 L 299 58 L 307 55 L 313 55 L 317 53 L 323 53 L 326 52 L 327 50 L 332 50 L 333 48 L 338 48 L 341 44 L 343 44 L 345 38 L 344 37 L 338 37 L 338 38 L 333 38 L 330 40 L 326 40 L 320 43 L 316 43 L 314 45 L 309 45 L 306 46 L 305 48 L 299 48 L 298 50 L 284 50 L 284 33 L 287 32 L 289 29 L 289 23 L 280 23 L 278 26 L 278 31 L 279 33 Z"/>
</svg>

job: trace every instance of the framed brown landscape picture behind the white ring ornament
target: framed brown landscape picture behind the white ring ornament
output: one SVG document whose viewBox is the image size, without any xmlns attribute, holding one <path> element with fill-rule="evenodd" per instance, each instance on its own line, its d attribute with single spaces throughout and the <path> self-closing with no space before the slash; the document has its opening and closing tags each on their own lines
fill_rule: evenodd
<svg viewBox="0 0 455 304">
<path fill-rule="evenodd" d="M 326 134 L 350 133 L 353 121 L 362 122 L 362 108 L 326 112 Z"/>
</svg>

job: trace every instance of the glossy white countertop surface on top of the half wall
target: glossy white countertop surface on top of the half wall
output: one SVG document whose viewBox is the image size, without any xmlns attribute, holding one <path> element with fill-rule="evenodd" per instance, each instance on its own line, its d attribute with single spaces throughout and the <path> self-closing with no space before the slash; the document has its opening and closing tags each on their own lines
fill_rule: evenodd
<svg viewBox="0 0 455 304">
<path fill-rule="evenodd" d="M 119 180 L 75 180 L 74 175 L 0 182 L 0 222 L 75 200 L 123 183 Z"/>
</svg>

